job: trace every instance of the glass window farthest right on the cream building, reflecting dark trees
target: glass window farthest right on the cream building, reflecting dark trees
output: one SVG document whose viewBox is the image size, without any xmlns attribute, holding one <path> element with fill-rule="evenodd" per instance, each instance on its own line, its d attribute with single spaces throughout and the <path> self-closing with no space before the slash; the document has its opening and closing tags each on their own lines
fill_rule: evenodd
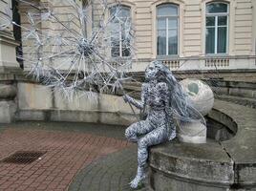
<svg viewBox="0 0 256 191">
<path fill-rule="evenodd" d="M 228 5 L 210 3 L 206 5 L 205 53 L 226 53 L 228 31 Z"/>
</svg>

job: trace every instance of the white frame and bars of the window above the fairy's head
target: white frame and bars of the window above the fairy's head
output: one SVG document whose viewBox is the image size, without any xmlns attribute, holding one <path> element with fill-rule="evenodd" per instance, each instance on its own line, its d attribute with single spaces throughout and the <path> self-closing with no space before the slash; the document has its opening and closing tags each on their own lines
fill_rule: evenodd
<svg viewBox="0 0 256 191">
<path fill-rule="evenodd" d="M 177 9 L 177 15 L 159 15 L 159 8 L 164 6 L 172 6 Z M 159 35 L 159 18 L 165 18 L 165 32 L 166 32 L 166 38 L 165 38 L 165 54 L 158 54 L 158 35 Z M 169 28 L 168 21 L 169 18 L 176 18 L 177 21 L 177 28 Z M 176 54 L 168 54 L 169 53 L 169 46 L 168 46 L 168 34 L 169 30 L 177 30 L 177 53 Z M 177 57 L 180 54 L 180 5 L 177 5 L 175 3 L 162 3 L 158 6 L 156 6 L 156 56 L 157 57 Z"/>
</svg>

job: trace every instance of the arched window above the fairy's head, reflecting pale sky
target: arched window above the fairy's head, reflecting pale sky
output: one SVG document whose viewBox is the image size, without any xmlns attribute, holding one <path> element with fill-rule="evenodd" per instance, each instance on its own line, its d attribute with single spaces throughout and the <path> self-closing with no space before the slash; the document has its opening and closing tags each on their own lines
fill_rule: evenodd
<svg viewBox="0 0 256 191">
<path fill-rule="evenodd" d="M 157 8 L 158 55 L 178 54 L 178 6 L 163 4 Z"/>
</svg>

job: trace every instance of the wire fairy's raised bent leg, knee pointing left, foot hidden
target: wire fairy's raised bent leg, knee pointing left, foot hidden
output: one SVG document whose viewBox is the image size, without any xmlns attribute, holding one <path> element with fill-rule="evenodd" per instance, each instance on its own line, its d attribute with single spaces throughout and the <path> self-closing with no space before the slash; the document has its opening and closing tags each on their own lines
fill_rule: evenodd
<svg viewBox="0 0 256 191">
<path fill-rule="evenodd" d="M 125 137 L 130 141 L 138 141 L 139 136 L 147 134 L 153 130 L 153 126 L 147 120 L 141 120 L 133 123 L 125 130 Z"/>
</svg>

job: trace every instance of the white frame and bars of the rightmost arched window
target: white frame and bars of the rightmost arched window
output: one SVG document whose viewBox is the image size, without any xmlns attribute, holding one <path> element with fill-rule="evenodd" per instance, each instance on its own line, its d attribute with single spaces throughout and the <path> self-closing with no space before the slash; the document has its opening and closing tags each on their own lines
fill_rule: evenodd
<svg viewBox="0 0 256 191">
<path fill-rule="evenodd" d="M 207 6 L 211 5 L 211 4 L 225 4 L 227 6 L 226 12 L 213 12 L 213 13 L 208 13 L 207 12 Z M 204 24 L 204 30 L 205 30 L 205 36 L 204 36 L 204 52 L 206 55 L 227 55 L 228 54 L 228 49 L 229 49 L 229 14 L 230 14 L 230 5 L 227 2 L 223 2 L 223 1 L 214 1 L 214 2 L 208 2 L 205 4 L 205 24 Z M 214 17 L 215 19 L 215 23 L 214 26 L 206 26 L 206 20 L 207 17 Z M 218 18 L 220 16 L 226 16 L 226 25 L 225 26 L 219 26 L 218 25 Z M 218 53 L 218 29 L 219 27 L 226 27 L 226 47 L 225 47 L 225 53 Z M 214 28 L 214 53 L 207 53 L 206 52 L 206 31 L 208 28 Z"/>
</svg>

